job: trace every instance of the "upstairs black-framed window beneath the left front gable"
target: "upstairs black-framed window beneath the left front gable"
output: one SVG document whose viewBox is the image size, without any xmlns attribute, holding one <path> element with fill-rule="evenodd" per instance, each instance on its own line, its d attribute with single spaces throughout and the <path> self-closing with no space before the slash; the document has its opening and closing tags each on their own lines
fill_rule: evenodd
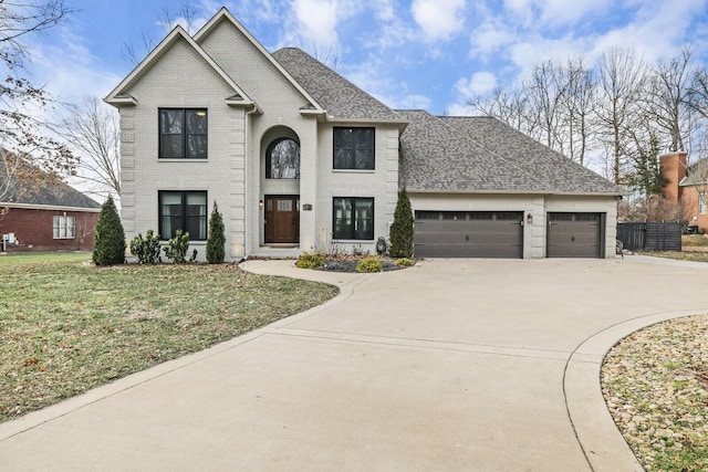
<svg viewBox="0 0 708 472">
<path fill-rule="evenodd" d="M 207 111 L 162 108 L 159 111 L 159 157 L 207 158 Z"/>
</svg>

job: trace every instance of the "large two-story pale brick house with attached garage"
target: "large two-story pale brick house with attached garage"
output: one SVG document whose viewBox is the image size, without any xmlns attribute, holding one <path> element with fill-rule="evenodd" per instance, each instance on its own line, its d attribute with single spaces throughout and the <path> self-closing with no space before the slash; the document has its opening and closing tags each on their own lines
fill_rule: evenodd
<svg viewBox="0 0 708 472">
<path fill-rule="evenodd" d="M 174 29 L 105 101 L 128 240 L 183 229 L 204 259 L 216 201 L 229 260 L 375 252 L 405 186 L 417 255 L 615 254 L 622 188 L 494 118 L 391 109 L 227 9 Z"/>
</svg>

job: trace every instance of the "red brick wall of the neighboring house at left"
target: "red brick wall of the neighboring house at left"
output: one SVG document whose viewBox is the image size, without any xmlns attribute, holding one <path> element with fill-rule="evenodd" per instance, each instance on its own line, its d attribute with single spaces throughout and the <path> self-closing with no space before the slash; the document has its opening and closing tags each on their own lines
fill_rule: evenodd
<svg viewBox="0 0 708 472">
<path fill-rule="evenodd" d="M 54 239 L 54 216 L 74 217 L 74 238 Z M 17 243 L 7 244 L 8 252 L 19 251 L 92 251 L 98 210 L 64 211 L 55 209 L 10 208 L 0 217 L 0 235 L 14 233 Z M 0 251 L 2 248 L 0 247 Z"/>
</svg>

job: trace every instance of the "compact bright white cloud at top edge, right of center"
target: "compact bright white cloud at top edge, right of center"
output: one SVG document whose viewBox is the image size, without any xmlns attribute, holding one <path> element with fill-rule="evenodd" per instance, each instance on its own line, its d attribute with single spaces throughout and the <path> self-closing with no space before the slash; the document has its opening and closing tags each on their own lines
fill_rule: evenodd
<svg viewBox="0 0 708 472">
<path fill-rule="evenodd" d="M 465 23 L 465 0 L 414 0 L 410 9 L 428 41 L 447 40 Z"/>
</svg>

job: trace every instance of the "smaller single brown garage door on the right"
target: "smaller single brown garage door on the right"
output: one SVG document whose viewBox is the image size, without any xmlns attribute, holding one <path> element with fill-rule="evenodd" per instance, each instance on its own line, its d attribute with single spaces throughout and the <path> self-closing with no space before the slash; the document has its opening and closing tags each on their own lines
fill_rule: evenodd
<svg viewBox="0 0 708 472">
<path fill-rule="evenodd" d="M 549 258 L 600 258 L 600 213 L 549 213 Z"/>
</svg>

